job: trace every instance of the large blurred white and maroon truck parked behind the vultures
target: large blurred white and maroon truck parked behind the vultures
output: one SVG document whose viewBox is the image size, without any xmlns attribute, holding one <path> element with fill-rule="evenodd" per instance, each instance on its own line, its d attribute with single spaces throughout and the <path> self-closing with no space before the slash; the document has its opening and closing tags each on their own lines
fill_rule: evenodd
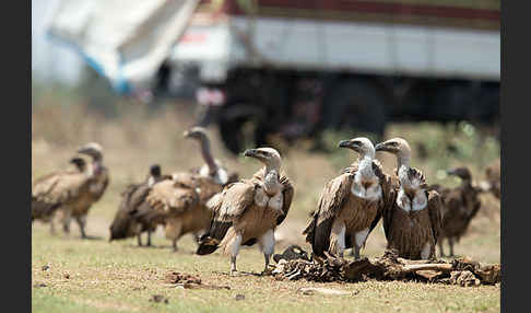
<svg viewBox="0 0 531 313">
<path fill-rule="evenodd" d="M 143 89 L 192 85 L 198 124 L 235 153 L 324 129 L 381 137 L 388 121 L 499 121 L 499 0 L 191 2 L 164 15 L 186 25 Z"/>
</svg>

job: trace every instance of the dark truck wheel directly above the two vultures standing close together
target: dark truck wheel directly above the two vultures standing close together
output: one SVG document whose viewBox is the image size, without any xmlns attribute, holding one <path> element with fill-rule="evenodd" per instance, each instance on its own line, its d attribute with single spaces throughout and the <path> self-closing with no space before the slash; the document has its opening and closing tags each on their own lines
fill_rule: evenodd
<svg viewBox="0 0 531 313">
<path fill-rule="evenodd" d="M 370 82 L 349 80 L 332 88 L 327 96 L 324 126 L 356 129 L 384 137 L 386 97 Z"/>
</svg>

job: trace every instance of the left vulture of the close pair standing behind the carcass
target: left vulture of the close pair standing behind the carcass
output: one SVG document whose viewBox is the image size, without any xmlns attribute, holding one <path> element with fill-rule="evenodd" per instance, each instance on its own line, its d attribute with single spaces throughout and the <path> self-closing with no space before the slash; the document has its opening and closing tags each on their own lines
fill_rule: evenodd
<svg viewBox="0 0 531 313">
<path fill-rule="evenodd" d="M 369 139 L 343 140 L 339 147 L 354 150 L 359 160 L 324 186 L 318 209 L 303 234 L 318 256 L 328 252 L 343 257 L 345 248 L 354 247 L 354 257 L 359 259 L 359 250 L 381 218 L 391 181 L 375 160 Z"/>
</svg>

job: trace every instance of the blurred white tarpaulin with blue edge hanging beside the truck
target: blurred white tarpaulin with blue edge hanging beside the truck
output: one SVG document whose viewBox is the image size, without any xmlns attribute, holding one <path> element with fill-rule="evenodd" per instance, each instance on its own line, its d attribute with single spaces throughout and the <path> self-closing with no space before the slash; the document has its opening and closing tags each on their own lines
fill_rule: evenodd
<svg viewBox="0 0 531 313">
<path fill-rule="evenodd" d="M 58 0 L 52 39 L 70 45 L 120 93 L 150 88 L 198 0 Z"/>
</svg>

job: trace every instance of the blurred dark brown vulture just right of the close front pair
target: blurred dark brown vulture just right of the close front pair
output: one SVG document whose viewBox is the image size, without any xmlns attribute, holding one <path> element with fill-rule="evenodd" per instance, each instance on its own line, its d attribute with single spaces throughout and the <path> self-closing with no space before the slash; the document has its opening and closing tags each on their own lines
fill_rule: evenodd
<svg viewBox="0 0 531 313">
<path fill-rule="evenodd" d="M 480 193 L 483 189 L 472 186 L 469 169 L 458 167 L 447 172 L 461 178 L 457 188 L 435 187 L 442 200 L 442 229 L 438 239 L 440 256 L 445 256 L 442 240 L 448 239 L 450 256 L 453 256 L 453 243 L 467 232 L 470 221 L 481 208 Z"/>
</svg>

